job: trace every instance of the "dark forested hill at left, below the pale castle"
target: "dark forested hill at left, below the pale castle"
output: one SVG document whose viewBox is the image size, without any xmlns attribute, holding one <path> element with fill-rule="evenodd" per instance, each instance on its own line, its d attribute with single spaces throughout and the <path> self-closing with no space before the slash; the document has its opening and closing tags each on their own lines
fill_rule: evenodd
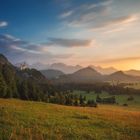
<svg viewBox="0 0 140 140">
<path fill-rule="evenodd" d="M 35 69 L 20 70 L 0 54 L 0 97 L 45 100 L 51 84 Z"/>
</svg>

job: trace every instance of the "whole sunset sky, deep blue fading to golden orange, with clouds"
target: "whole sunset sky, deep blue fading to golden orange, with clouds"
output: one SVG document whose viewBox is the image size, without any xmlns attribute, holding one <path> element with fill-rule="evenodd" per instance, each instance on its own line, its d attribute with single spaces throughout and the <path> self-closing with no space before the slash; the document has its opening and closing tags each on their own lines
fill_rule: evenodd
<svg viewBox="0 0 140 140">
<path fill-rule="evenodd" d="M 140 0 L 0 0 L 0 53 L 140 70 Z"/>
</svg>

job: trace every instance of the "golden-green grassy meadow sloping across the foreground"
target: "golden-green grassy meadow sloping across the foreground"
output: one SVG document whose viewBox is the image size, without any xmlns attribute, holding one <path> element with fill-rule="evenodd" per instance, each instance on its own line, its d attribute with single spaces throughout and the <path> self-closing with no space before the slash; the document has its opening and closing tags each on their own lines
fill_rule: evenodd
<svg viewBox="0 0 140 140">
<path fill-rule="evenodd" d="M 0 99 L 0 140 L 138 140 L 140 110 Z"/>
</svg>

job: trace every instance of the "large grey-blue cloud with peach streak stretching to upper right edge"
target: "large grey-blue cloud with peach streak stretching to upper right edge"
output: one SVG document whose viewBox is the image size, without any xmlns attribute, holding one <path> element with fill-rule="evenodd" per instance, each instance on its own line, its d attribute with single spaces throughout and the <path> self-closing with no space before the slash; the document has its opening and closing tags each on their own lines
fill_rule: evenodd
<svg viewBox="0 0 140 140">
<path fill-rule="evenodd" d="M 100 29 L 110 26 L 127 25 L 139 19 L 137 14 L 123 13 L 112 14 L 112 0 L 102 0 L 97 3 L 90 2 L 79 5 L 64 12 L 62 20 L 64 24 L 70 27 L 84 27 L 88 29 Z M 61 16 L 62 16 L 61 15 Z"/>
</svg>

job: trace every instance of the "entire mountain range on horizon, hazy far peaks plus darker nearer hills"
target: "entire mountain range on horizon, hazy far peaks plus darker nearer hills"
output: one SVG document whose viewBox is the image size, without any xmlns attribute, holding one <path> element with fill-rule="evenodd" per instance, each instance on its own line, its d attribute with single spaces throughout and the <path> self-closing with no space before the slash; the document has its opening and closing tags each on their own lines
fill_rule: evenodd
<svg viewBox="0 0 140 140">
<path fill-rule="evenodd" d="M 92 82 L 92 81 L 112 81 L 112 80 L 123 82 L 140 81 L 139 70 L 118 71 L 113 67 L 102 68 L 100 66 L 93 65 L 83 68 L 80 65 L 72 66 L 63 63 L 54 63 L 48 65 L 36 63 L 35 65 L 38 67 L 38 69 L 40 69 L 40 72 L 47 79 L 57 79 L 57 81 L 67 81 L 67 82 L 70 81 Z M 29 67 L 33 67 L 33 65 L 32 66 L 29 65 Z M 41 70 L 41 68 L 45 69 Z"/>
</svg>

